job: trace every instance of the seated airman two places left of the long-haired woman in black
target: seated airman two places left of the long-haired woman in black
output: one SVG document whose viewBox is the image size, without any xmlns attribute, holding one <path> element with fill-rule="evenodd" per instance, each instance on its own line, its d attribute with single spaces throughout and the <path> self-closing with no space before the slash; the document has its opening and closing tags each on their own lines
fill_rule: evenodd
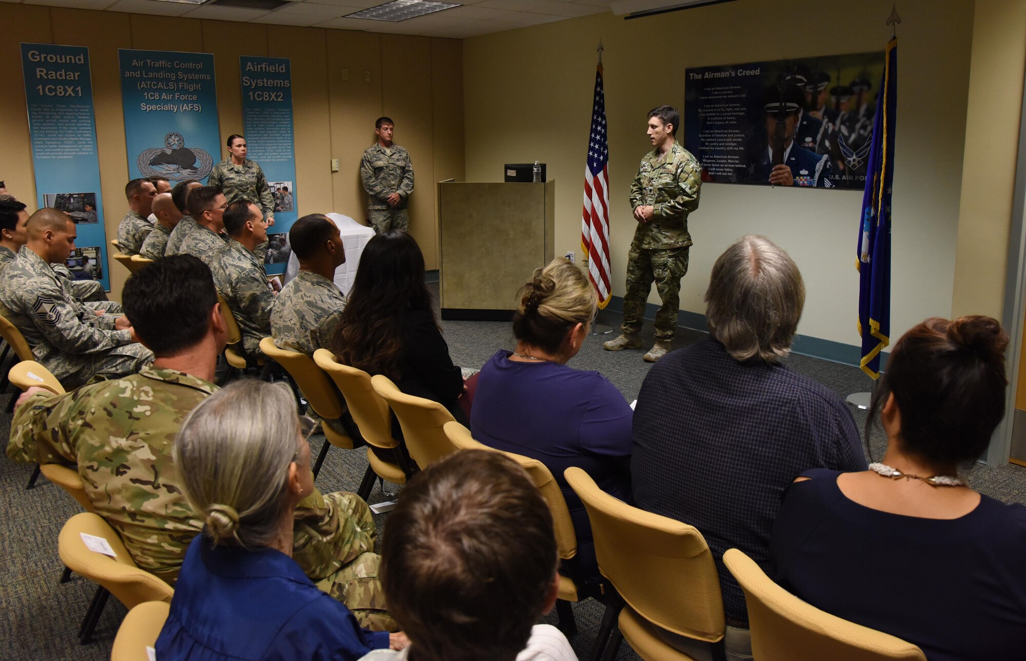
<svg viewBox="0 0 1026 661">
<path fill-rule="evenodd" d="M 264 260 L 254 254 L 267 241 L 264 215 L 253 202 L 236 200 L 224 213 L 228 244 L 210 262 L 218 291 L 231 308 L 242 333 L 246 358 L 255 361 L 260 341 L 271 335 L 274 291 L 268 284 Z"/>
</svg>

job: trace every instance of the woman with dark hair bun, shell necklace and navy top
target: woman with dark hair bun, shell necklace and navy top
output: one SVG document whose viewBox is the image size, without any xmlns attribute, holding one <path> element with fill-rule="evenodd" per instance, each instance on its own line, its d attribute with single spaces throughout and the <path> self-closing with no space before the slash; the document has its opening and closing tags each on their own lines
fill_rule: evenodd
<svg viewBox="0 0 1026 661">
<path fill-rule="evenodd" d="M 959 469 L 1004 417 L 1009 338 L 990 317 L 905 334 L 873 397 L 887 451 L 868 471 L 805 471 L 773 531 L 777 580 L 828 613 L 917 645 L 931 661 L 1026 654 L 1026 506 Z"/>
</svg>

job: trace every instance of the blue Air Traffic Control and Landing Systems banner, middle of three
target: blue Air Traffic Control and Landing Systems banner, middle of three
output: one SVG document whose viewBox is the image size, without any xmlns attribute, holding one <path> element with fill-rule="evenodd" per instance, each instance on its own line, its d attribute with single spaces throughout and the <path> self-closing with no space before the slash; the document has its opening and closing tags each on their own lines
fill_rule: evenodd
<svg viewBox="0 0 1026 661">
<path fill-rule="evenodd" d="M 119 49 L 128 177 L 206 183 L 221 154 L 213 55 Z"/>
</svg>

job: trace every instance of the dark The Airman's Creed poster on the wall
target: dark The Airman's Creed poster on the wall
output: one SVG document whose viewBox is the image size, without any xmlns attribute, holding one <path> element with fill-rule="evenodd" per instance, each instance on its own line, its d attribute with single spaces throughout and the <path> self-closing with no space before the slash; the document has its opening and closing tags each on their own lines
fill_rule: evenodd
<svg viewBox="0 0 1026 661">
<path fill-rule="evenodd" d="M 862 190 L 883 52 L 685 71 L 702 181 Z"/>
</svg>

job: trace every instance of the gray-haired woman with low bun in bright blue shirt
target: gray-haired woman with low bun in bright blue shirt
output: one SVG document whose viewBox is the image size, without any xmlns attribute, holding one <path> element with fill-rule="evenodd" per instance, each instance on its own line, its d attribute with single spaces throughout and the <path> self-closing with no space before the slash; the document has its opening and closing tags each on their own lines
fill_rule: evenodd
<svg viewBox="0 0 1026 661">
<path fill-rule="evenodd" d="M 204 521 L 186 553 L 157 658 L 355 660 L 401 649 L 361 629 L 291 558 L 292 515 L 313 492 L 314 422 L 286 386 L 232 383 L 189 414 L 174 441 L 186 498 Z"/>
</svg>

